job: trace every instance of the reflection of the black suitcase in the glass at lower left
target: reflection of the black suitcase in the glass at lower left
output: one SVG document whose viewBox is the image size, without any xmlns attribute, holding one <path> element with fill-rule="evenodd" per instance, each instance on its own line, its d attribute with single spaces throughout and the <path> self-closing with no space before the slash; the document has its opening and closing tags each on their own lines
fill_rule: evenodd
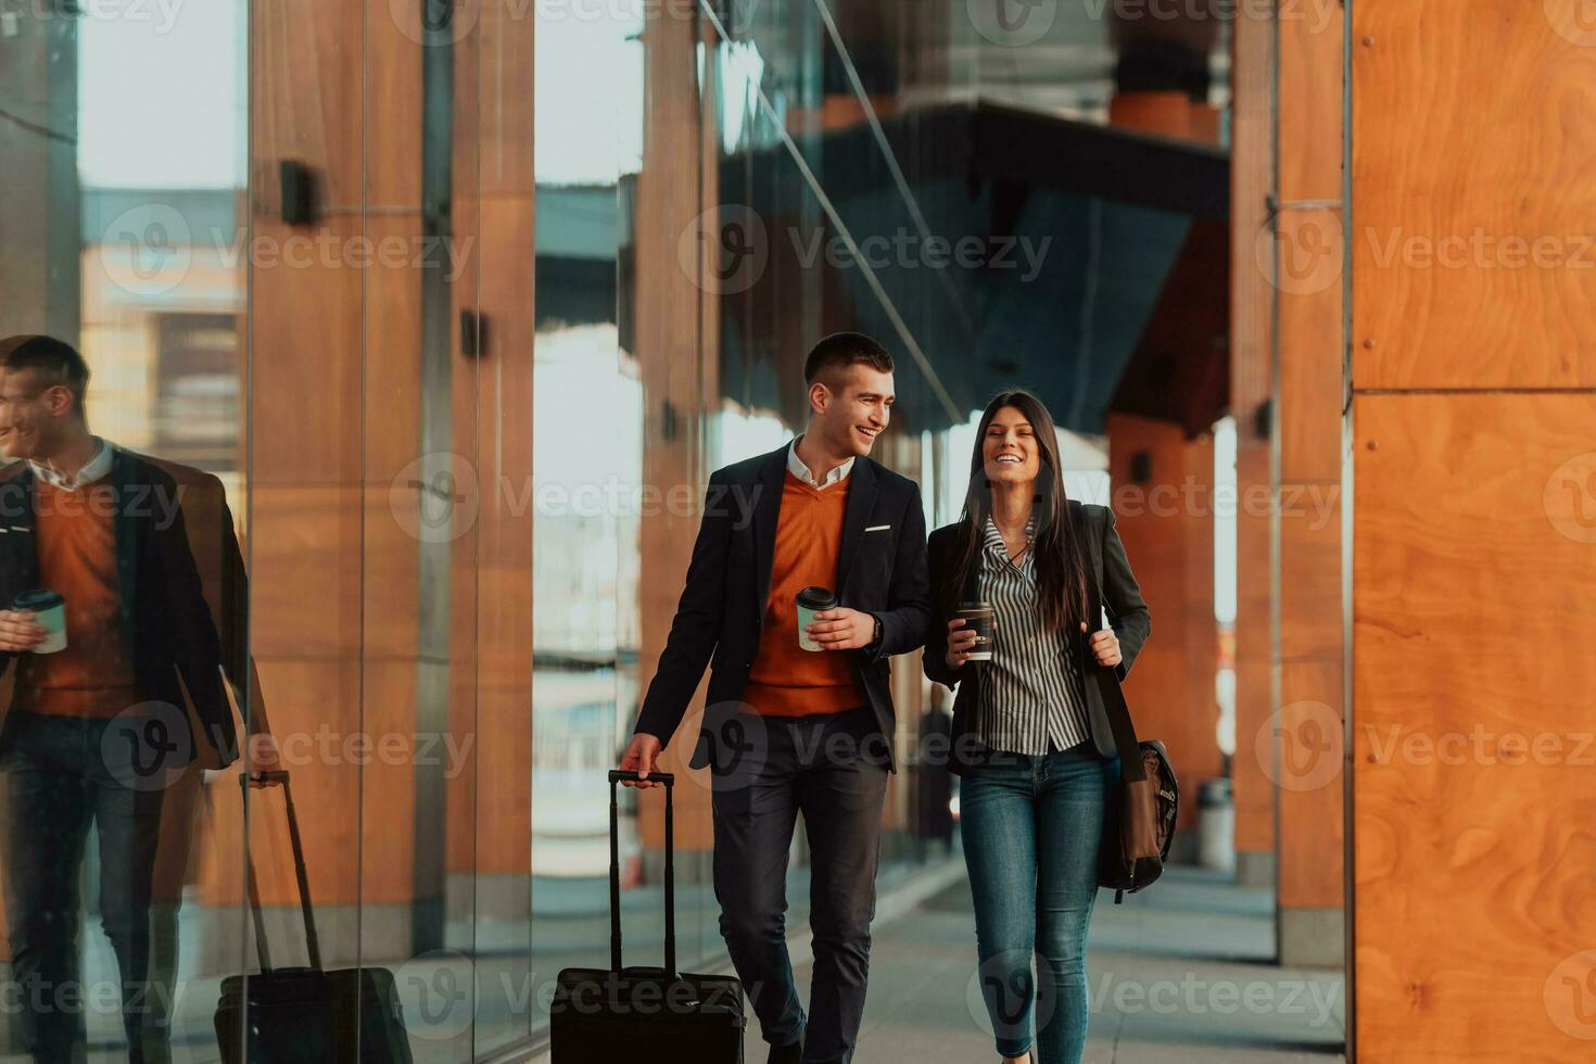
<svg viewBox="0 0 1596 1064">
<path fill-rule="evenodd" d="M 255 924 L 260 975 L 233 975 L 222 979 L 222 1002 L 215 1010 L 215 1037 L 223 1064 L 412 1064 L 404 1010 L 394 976 L 386 968 L 340 968 L 324 971 L 316 917 L 310 904 L 305 849 L 300 844 L 294 796 L 287 772 L 259 774 L 282 786 L 289 841 L 294 844 L 294 874 L 298 881 L 300 911 L 305 914 L 308 968 L 271 967 L 271 949 L 260 914 L 255 866 L 246 850 L 249 911 Z M 247 785 L 247 778 L 239 778 Z M 246 1031 L 247 1024 L 247 1031 Z"/>
</svg>

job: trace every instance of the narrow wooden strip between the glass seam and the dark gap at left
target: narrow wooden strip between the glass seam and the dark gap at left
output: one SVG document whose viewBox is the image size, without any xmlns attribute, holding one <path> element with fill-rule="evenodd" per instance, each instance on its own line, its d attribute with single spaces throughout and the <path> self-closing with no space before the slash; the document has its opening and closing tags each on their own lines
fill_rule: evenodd
<svg viewBox="0 0 1596 1064">
<path fill-rule="evenodd" d="M 421 582 L 426 514 L 425 495 L 436 488 L 415 461 L 425 450 L 423 428 L 423 284 L 428 252 L 423 191 L 423 45 L 415 27 L 388 5 L 364 6 L 365 220 L 375 246 L 407 247 L 381 255 L 356 273 L 362 278 L 361 381 L 361 528 L 362 644 L 359 649 L 359 726 L 375 743 L 405 756 L 373 756 L 367 764 L 338 764 L 361 785 L 361 956 L 369 960 L 409 957 L 417 906 L 436 908 L 436 873 L 418 897 L 418 860 L 436 865 L 429 833 L 417 833 L 418 783 L 434 751 L 421 755 L 440 729 L 420 715 L 431 692 L 420 686 L 421 609 L 433 608 Z M 447 89 L 445 89 L 447 91 Z M 412 506 L 415 509 L 412 509 Z M 377 747 L 380 750 L 380 747 Z M 434 944 L 434 943 L 428 943 Z"/>
</svg>

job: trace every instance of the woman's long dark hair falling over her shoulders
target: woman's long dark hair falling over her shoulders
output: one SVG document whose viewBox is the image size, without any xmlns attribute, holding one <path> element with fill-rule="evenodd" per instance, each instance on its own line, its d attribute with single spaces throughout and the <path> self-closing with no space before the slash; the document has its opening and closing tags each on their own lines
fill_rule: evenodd
<svg viewBox="0 0 1596 1064">
<path fill-rule="evenodd" d="M 964 495 L 964 514 L 959 517 L 958 558 L 953 597 L 969 585 L 985 538 L 986 518 L 993 512 L 993 488 L 986 479 L 986 429 L 1004 407 L 1013 407 L 1031 423 L 1036 447 L 1041 451 L 1041 469 L 1036 474 L 1036 496 L 1031 514 L 1036 517 L 1036 541 L 1033 542 L 1037 598 L 1042 619 L 1049 627 L 1069 625 L 1073 632 L 1085 619 L 1088 609 L 1087 573 L 1080 549 L 1080 530 L 1069 515 L 1069 498 L 1065 495 L 1065 474 L 1058 461 L 1058 429 L 1042 400 L 1028 391 L 999 392 L 982 413 L 975 431 L 975 453 L 970 455 L 970 487 Z"/>
</svg>

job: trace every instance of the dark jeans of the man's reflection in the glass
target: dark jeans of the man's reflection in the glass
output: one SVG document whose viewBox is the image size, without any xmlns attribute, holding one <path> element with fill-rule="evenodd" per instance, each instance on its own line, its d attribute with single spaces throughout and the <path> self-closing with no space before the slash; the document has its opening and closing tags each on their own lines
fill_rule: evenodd
<svg viewBox="0 0 1596 1064">
<path fill-rule="evenodd" d="M 13 710 L 0 737 L 8 801 L 5 908 L 22 1042 L 35 1061 L 65 1064 L 86 1051 L 85 1008 L 97 1000 L 78 971 L 83 847 L 96 826 L 101 922 L 117 952 L 128 1059 L 164 1059 L 164 1032 L 147 1000 L 150 881 L 161 791 L 139 790 L 112 721 Z"/>
</svg>

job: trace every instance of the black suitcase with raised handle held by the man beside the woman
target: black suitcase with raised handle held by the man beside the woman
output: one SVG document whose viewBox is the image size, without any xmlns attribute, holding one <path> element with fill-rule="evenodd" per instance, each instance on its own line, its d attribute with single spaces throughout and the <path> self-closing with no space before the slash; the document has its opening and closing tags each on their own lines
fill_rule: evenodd
<svg viewBox="0 0 1596 1064">
<path fill-rule="evenodd" d="M 635 772 L 610 772 L 610 967 L 560 971 L 549 1003 L 552 1064 L 742 1064 L 747 1027 L 742 983 L 677 971 L 675 777 L 666 785 L 666 967 L 621 965 L 621 842 L 616 783 Z"/>
</svg>

